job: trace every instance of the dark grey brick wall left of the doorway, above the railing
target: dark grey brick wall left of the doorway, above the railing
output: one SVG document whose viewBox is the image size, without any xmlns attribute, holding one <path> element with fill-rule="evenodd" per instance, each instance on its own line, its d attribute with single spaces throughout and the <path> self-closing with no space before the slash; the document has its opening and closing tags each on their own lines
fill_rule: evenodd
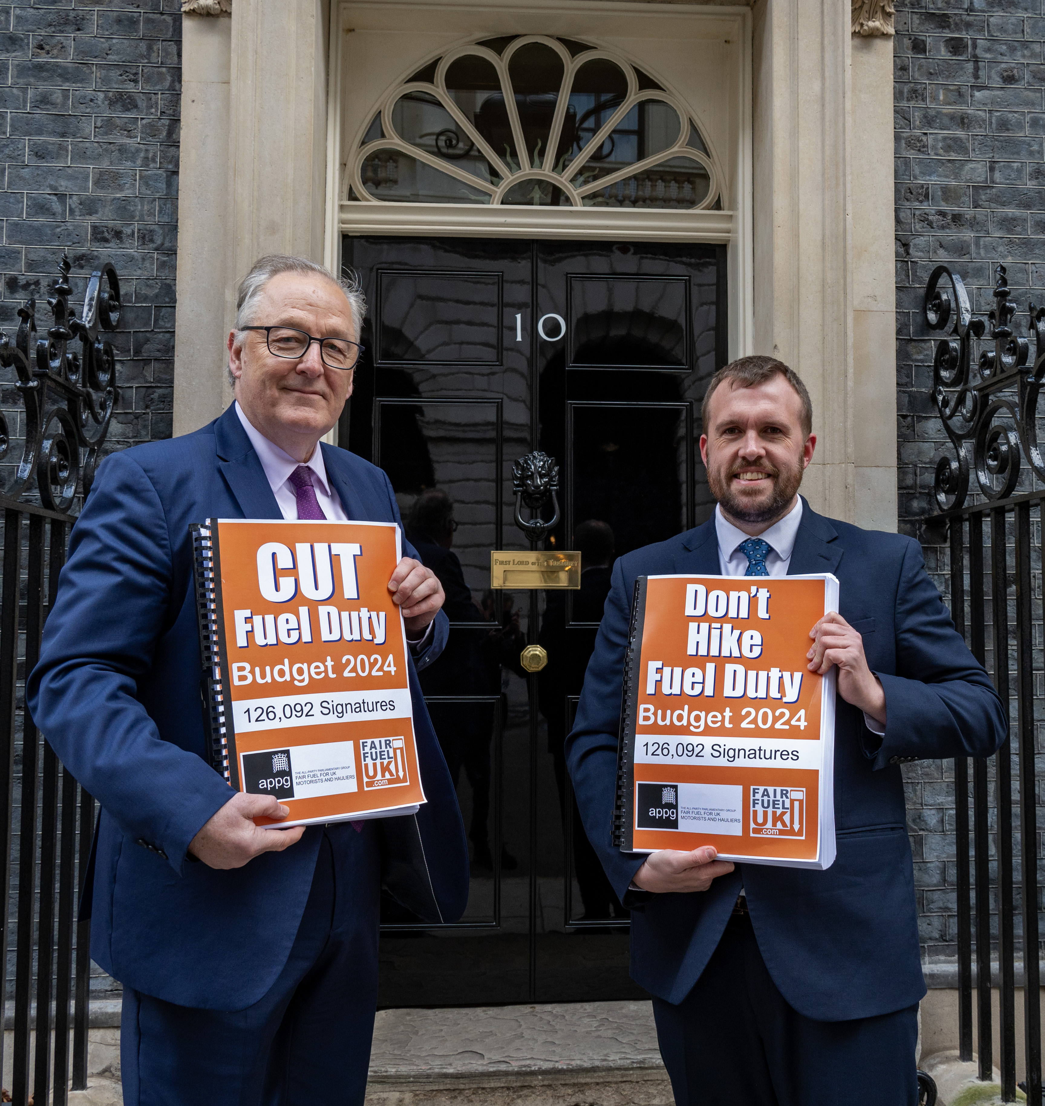
<svg viewBox="0 0 1045 1106">
<path fill-rule="evenodd" d="M 178 0 L 0 4 L 0 326 L 46 298 L 63 249 L 81 303 L 83 274 L 113 261 L 126 306 L 112 449 L 171 432 L 179 12 Z"/>
</svg>

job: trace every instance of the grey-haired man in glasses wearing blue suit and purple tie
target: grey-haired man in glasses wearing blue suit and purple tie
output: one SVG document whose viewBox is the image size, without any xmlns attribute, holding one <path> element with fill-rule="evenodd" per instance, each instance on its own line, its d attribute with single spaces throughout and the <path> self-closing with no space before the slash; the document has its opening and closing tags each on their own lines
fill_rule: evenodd
<svg viewBox="0 0 1045 1106">
<path fill-rule="evenodd" d="M 128 1106 L 362 1104 L 384 885 L 431 921 L 468 897 L 468 848 L 416 669 L 443 648 L 438 578 L 414 550 L 389 589 L 414 664 L 428 803 L 411 817 L 260 830 L 274 797 L 205 761 L 189 525 L 207 518 L 399 522 L 388 478 L 322 445 L 352 394 L 362 294 L 299 258 L 240 285 L 236 403 L 109 457 L 73 528 L 27 698 L 102 805 L 92 958 L 124 983 Z"/>
</svg>

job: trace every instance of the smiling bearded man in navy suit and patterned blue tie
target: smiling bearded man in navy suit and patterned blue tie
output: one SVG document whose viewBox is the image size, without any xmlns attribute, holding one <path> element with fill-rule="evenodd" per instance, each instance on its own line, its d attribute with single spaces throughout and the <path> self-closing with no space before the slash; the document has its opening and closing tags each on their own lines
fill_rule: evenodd
<svg viewBox="0 0 1045 1106">
<path fill-rule="evenodd" d="M 814 512 L 798 495 L 816 438 L 802 380 L 772 357 L 712 378 L 701 456 L 714 518 L 617 561 L 566 739 L 592 844 L 631 907 L 631 974 L 654 995 L 676 1102 L 916 1106 L 922 980 L 899 765 L 985 757 L 1005 710 L 926 574 L 916 542 Z M 835 821 L 826 872 L 648 856 L 610 845 L 621 669 L 635 580 L 834 573 L 840 611 L 809 634 L 837 668 Z"/>
</svg>

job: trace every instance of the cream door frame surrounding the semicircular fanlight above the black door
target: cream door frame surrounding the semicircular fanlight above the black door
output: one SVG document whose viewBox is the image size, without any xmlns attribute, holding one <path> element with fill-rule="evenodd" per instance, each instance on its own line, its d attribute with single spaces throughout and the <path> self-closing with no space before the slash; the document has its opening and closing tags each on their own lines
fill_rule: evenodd
<svg viewBox="0 0 1045 1106">
<path fill-rule="evenodd" d="M 750 8 L 620 0 L 338 0 L 332 19 L 327 265 L 341 264 L 346 233 L 723 243 L 730 356 L 753 352 Z M 442 50 L 495 34 L 581 39 L 649 72 L 676 93 L 717 148 L 725 210 L 348 202 L 346 161 L 387 92 Z M 345 119 L 342 106 L 349 102 L 352 117 Z"/>
</svg>

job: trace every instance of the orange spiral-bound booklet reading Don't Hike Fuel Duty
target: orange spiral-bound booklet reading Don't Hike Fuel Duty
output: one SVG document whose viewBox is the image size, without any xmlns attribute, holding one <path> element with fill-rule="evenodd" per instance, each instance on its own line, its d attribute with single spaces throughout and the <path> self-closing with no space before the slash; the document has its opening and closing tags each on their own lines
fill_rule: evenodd
<svg viewBox="0 0 1045 1106">
<path fill-rule="evenodd" d="M 809 630 L 838 609 L 816 576 L 641 576 L 625 662 L 614 841 L 723 859 L 835 859 L 835 670 Z"/>
</svg>

